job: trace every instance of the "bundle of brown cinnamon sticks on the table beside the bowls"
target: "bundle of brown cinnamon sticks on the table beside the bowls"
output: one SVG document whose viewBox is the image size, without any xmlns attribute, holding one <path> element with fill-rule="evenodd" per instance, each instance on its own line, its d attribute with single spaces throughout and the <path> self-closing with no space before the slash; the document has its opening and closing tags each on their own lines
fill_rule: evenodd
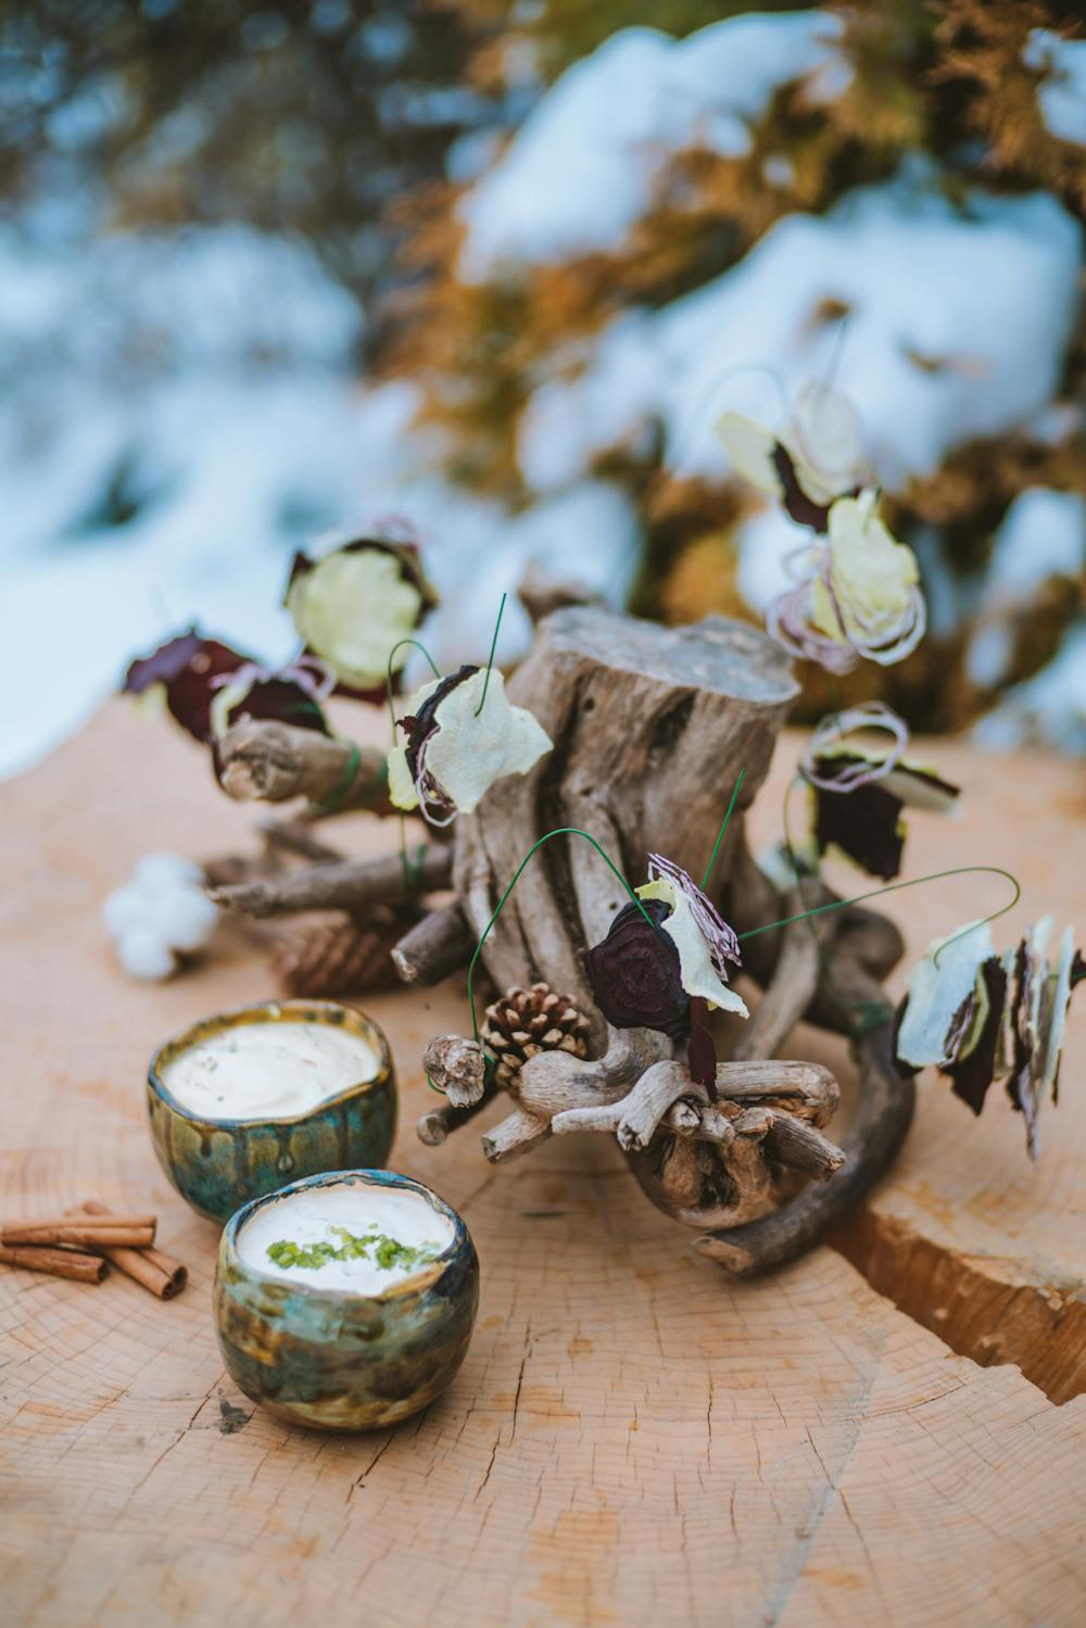
<svg viewBox="0 0 1086 1628">
<path fill-rule="evenodd" d="M 117 1216 L 88 1198 L 63 1214 L 0 1223 L 0 1263 L 80 1283 L 101 1283 L 112 1263 L 160 1301 L 169 1301 L 189 1273 L 155 1249 L 156 1226 L 158 1216 Z"/>
</svg>

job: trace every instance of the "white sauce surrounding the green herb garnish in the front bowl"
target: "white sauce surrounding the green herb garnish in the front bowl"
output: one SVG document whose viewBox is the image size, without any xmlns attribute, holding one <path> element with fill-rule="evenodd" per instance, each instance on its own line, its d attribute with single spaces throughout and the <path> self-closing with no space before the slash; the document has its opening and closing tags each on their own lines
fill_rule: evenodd
<svg viewBox="0 0 1086 1628">
<path fill-rule="evenodd" d="M 438 1254 L 453 1242 L 454 1228 L 448 1216 L 431 1210 L 425 1198 L 402 1187 L 371 1187 L 368 1182 L 337 1182 L 327 1187 L 304 1187 L 275 1203 L 264 1205 L 238 1234 L 238 1255 L 272 1278 L 308 1283 L 314 1289 L 342 1289 L 353 1294 L 383 1294 L 405 1278 L 428 1270 L 428 1263 L 378 1267 L 368 1260 L 329 1260 L 321 1267 L 280 1267 L 267 1254 L 270 1244 L 344 1242 L 332 1228 L 342 1226 L 355 1237 L 381 1232 L 414 1249 L 436 1247 Z M 373 1250 L 370 1252 L 373 1255 Z"/>
</svg>

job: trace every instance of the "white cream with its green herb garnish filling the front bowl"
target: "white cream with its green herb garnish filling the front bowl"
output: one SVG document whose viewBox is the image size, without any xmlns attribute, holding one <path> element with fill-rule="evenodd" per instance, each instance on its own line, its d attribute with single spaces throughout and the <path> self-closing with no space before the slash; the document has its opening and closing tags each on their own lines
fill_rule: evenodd
<svg viewBox="0 0 1086 1628">
<path fill-rule="evenodd" d="M 337 1182 L 262 1205 L 236 1249 L 244 1265 L 287 1283 L 383 1294 L 423 1271 L 454 1236 L 453 1223 L 410 1188 Z M 322 1250 L 335 1258 L 317 1263 Z"/>
</svg>

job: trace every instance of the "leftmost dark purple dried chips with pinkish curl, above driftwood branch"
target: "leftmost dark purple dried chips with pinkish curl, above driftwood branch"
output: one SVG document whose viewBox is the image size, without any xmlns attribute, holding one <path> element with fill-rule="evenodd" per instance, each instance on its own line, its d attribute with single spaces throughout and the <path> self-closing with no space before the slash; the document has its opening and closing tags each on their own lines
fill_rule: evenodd
<svg viewBox="0 0 1086 1628">
<path fill-rule="evenodd" d="M 275 718 L 301 729 L 329 734 L 319 700 L 319 672 L 295 664 L 261 667 L 251 656 L 195 628 L 168 638 L 150 656 L 129 666 L 125 695 L 161 690 L 171 716 L 190 736 L 212 744 L 241 718 Z"/>
</svg>

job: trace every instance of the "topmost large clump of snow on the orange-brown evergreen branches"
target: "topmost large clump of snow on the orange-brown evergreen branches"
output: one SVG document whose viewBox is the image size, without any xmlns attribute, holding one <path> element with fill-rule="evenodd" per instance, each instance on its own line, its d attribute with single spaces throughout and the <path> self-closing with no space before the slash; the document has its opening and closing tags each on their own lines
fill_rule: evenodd
<svg viewBox="0 0 1086 1628">
<path fill-rule="evenodd" d="M 655 28 L 612 34 L 562 75 L 464 195 L 461 275 L 485 282 L 505 267 L 615 247 L 669 155 L 698 143 L 741 156 L 782 85 L 812 75 L 819 94 L 824 75 L 840 90 L 839 34 L 825 11 L 749 13 L 687 39 Z"/>
</svg>

